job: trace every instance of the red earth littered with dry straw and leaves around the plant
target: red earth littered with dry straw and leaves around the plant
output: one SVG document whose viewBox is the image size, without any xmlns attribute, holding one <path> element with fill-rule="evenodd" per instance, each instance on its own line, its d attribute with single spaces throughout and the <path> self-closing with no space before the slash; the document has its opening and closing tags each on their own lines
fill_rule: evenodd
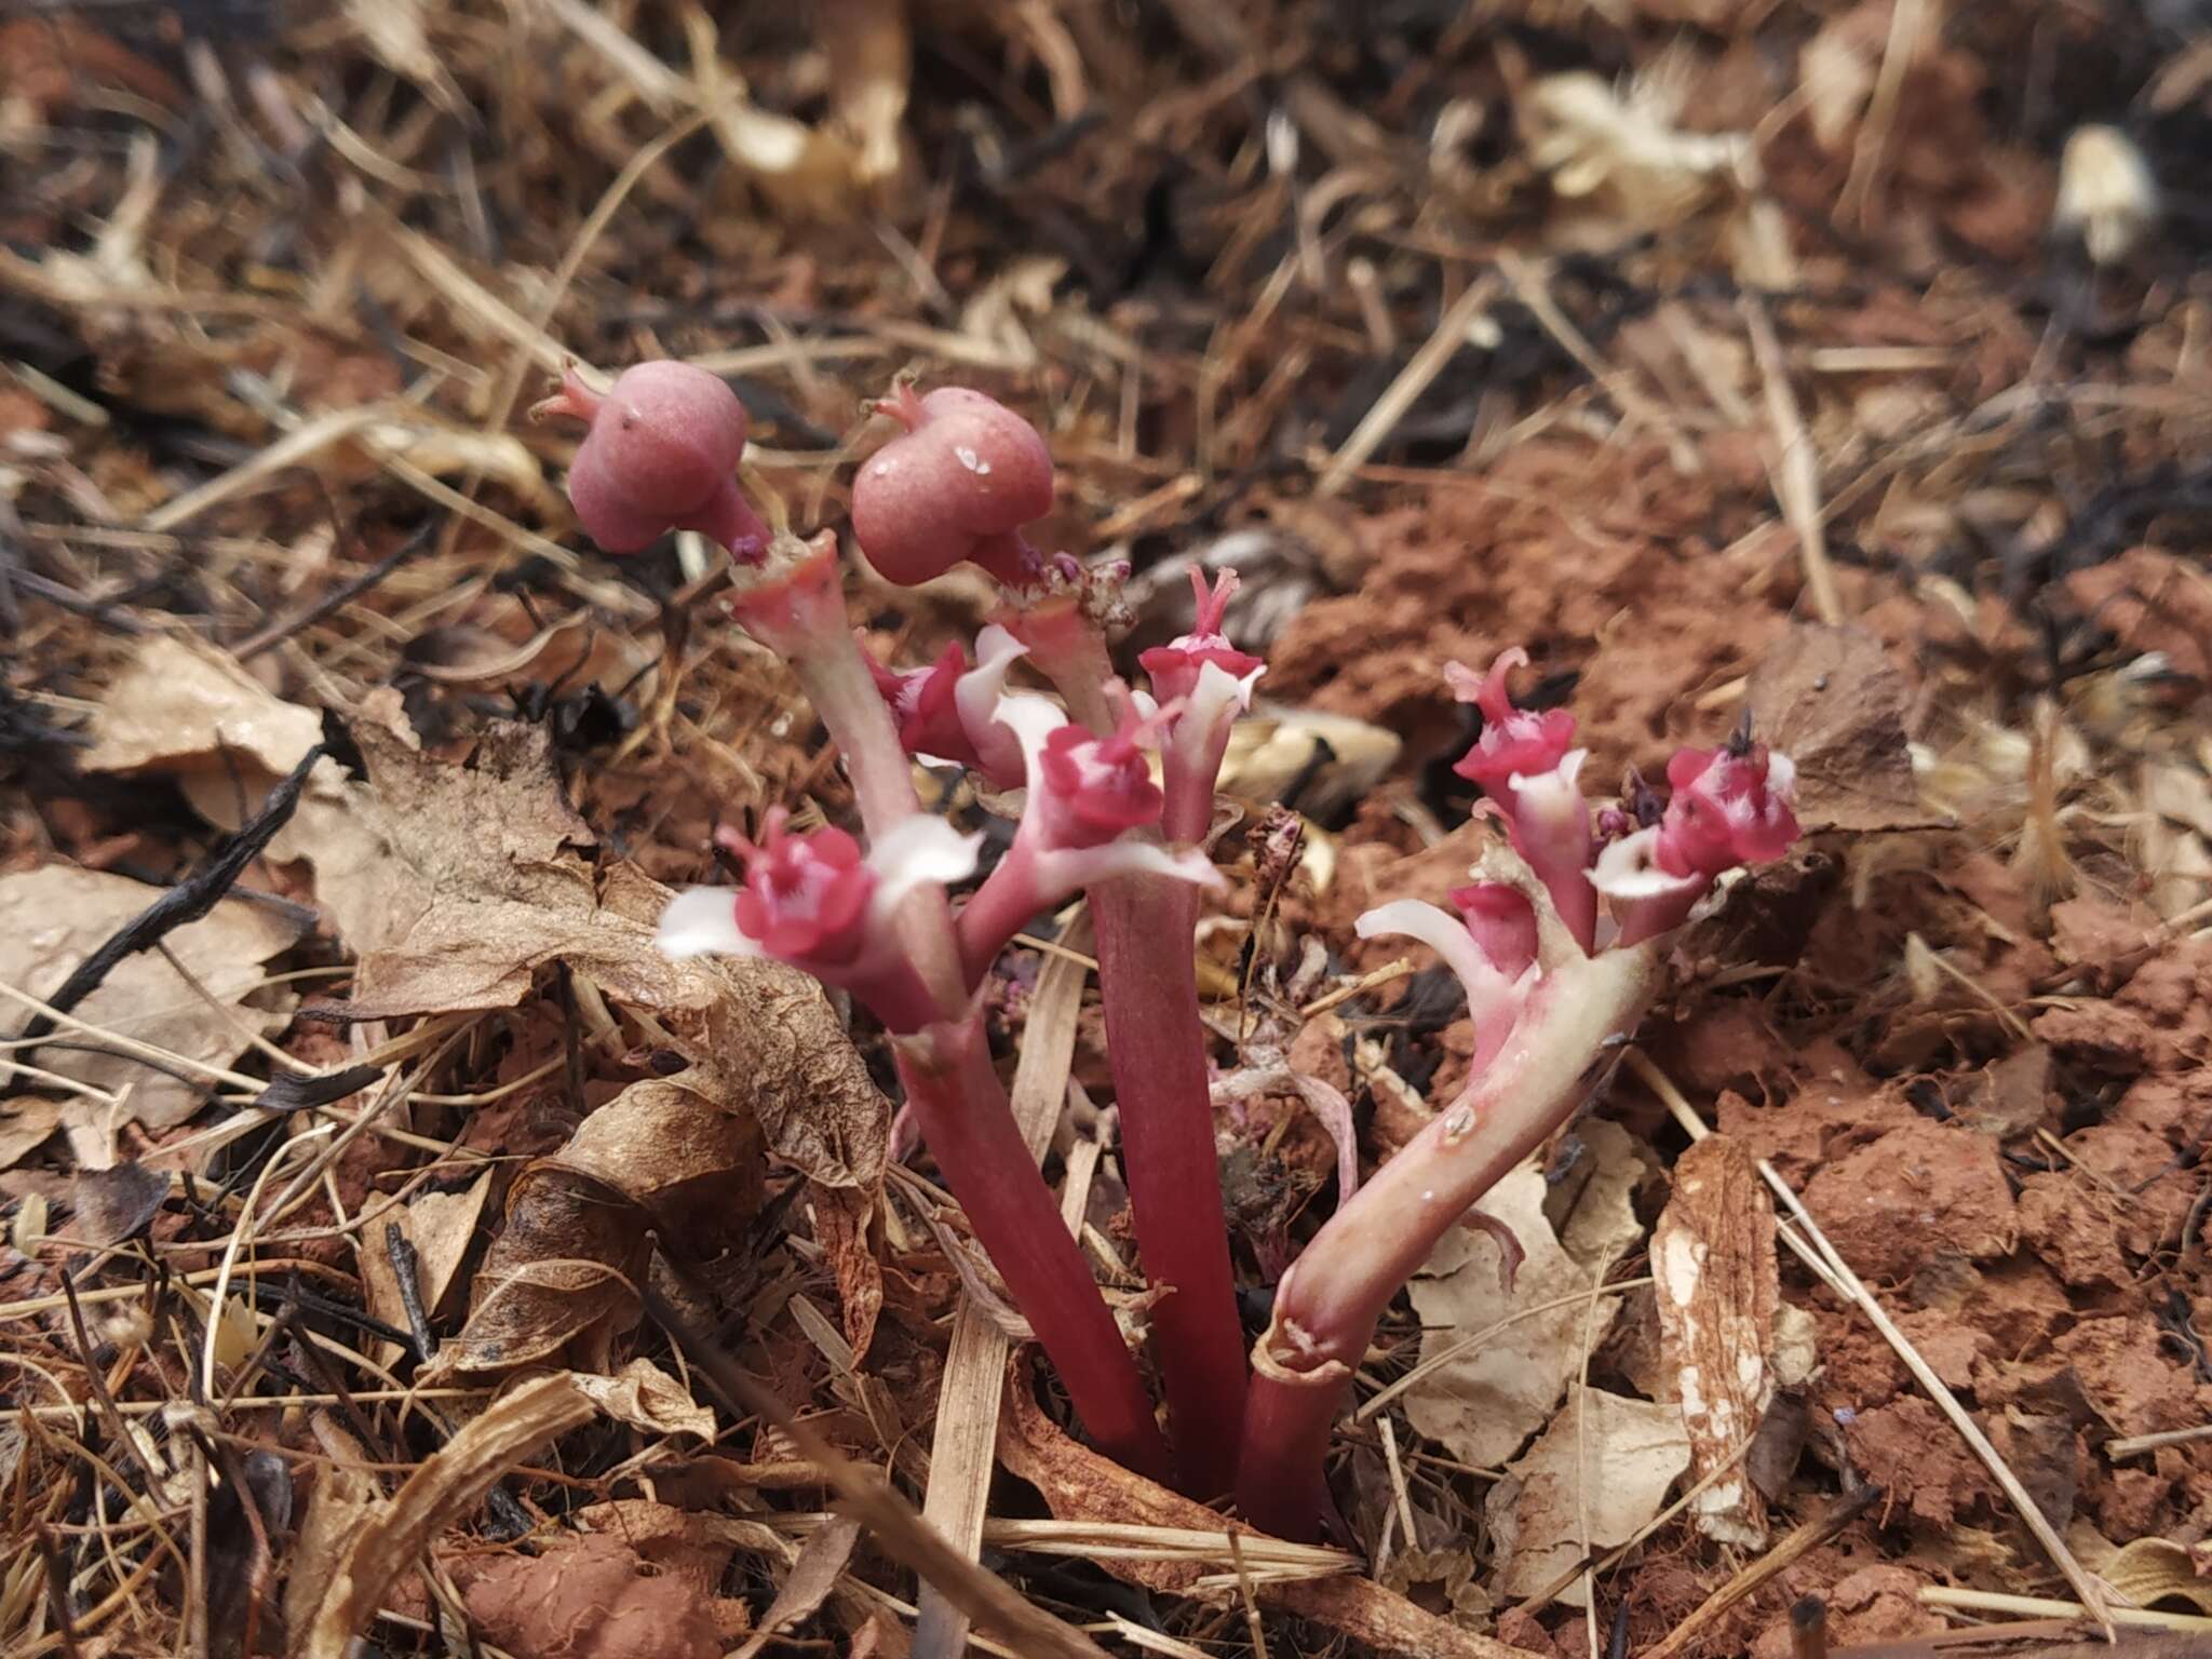
<svg viewBox="0 0 2212 1659">
<path fill-rule="evenodd" d="M 1803 1197 L 2075 1562 L 2212 1617 L 2212 71 L 2152 11 L 0 24 L 0 1646 L 914 1646 L 896 1524 L 827 1520 L 827 1460 L 922 1502 L 973 1409 L 940 1398 L 949 1327 L 993 1290 L 927 1152 L 894 1157 L 865 1018 L 650 949 L 717 823 L 852 803 L 708 566 L 577 535 L 573 442 L 522 418 L 564 354 L 730 374 L 801 526 L 843 522 L 896 374 L 1002 396 L 1053 447 L 1046 540 L 1135 566 L 1128 653 L 1188 622 L 1188 562 L 1243 571 L 1265 743 L 1197 942 L 1212 1057 L 1343 1091 L 1369 1164 L 1471 1053 L 1444 975 L 1352 933 L 1489 834 L 1444 664 L 1526 648 L 1517 690 L 1575 712 L 1606 792 L 1747 710 L 1807 841 L 1683 933 L 1650 1073 L 1546 1148 L 1553 1267 L 1655 1272 L 1663 1079 Z M 739 86 L 743 119 L 670 133 Z M 2059 155 L 2121 111 L 2172 195 L 2093 265 L 2053 232 Z M 989 604 L 852 593 L 902 664 Z M 27 1026 L 316 741 L 201 918 Z M 1046 960 L 995 991 L 1009 1073 Z M 1086 1004 L 1055 1181 L 1091 1170 L 1102 1042 Z M 1336 1148 L 1287 1091 L 1217 1128 L 1261 1296 Z M 1113 1157 L 1084 1179 L 1135 1316 Z M 1389 1440 L 1343 1425 L 1356 1559 L 1259 1586 L 1270 1652 L 1781 1659 L 1801 1597 L 1832 1650 L 2022 1617 L 1931 1588 L 2070 1601 L 1898 1347 L 1778 1261 L 1763 1544 L 1652 1513 L 1588 1551 L 1588 1613 L 1577 1575 L 1528 1604 L 1511 1553 L 1579 1559 L 1577 1504 L 1509 1548 L 1498 1515 L 1542 1502 L 1407 1394 Z M 1491 1338 L 1559 1369 L 1515 1462 L 1568 1380 L 1683 1400 L 1655 1294 L 1617 1301 L 1564 1367 Z M 1449 1340 L 1420 1323 L 1402 1301 L 1360 1398 Z M 584 1405 L 533 1418 L 546 1376 Z M 1026 1358 L 1006 1398 L 989 1571 L 1113 1652 L 1108 1619 L 1250 1644 L 1221 1544 L 1009 1531 L 1208 1515 L 1068 1438 Z"/>
</svg>

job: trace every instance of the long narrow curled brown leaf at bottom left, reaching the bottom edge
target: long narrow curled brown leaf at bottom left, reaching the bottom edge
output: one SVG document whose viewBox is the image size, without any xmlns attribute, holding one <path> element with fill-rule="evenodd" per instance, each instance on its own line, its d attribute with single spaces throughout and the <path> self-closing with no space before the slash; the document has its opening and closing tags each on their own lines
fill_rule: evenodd
<svg viewBox="0 0 2212 1659">
<path fill-rule="evenodd" d="M 425 1458 L 352 1533 L 301 1639 L 301 1659 L 345 1659 L 392 1582 L 493 1482 L 549 1440 L 588 1422 L 593 1405 L 566 1376 L 522 1383 Z"/>
</svg>

